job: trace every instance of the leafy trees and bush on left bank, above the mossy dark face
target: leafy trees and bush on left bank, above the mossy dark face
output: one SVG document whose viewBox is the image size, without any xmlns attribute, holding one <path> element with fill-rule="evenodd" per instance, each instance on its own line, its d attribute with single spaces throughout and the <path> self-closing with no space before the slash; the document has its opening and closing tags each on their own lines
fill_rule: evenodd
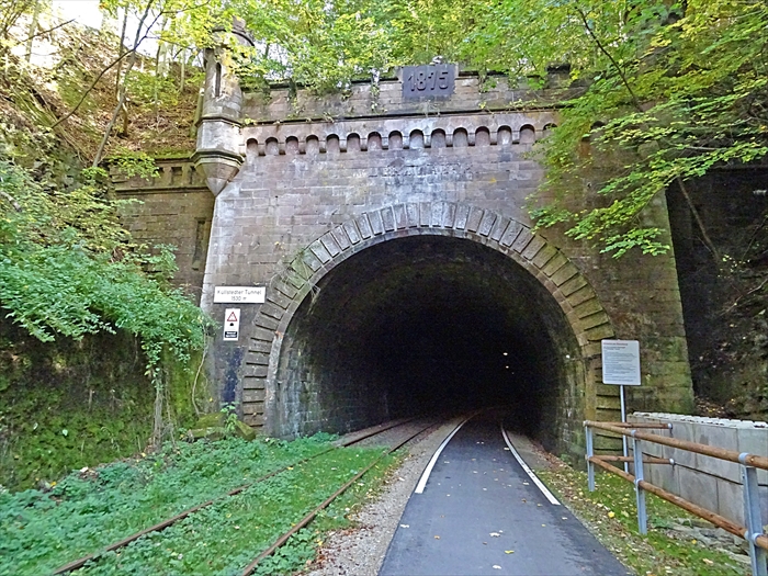
<svg viewBox="0 0 768 576">
<path fill-rule="evenodd" d="M 99 331 L 135 335 L 156 389 L 153 443 L 158 445 L 163 432 L 167 369 L 183 366 L 193 350 L 204 347 L 213 321 L 171 285 L 176 270 L 171 247 L 139 245 L 118 221 L 121 202 L 111 196 L 109 178 L 98 166 L 115 116 L 98 147 L 98 133 L 77 128 L 88 125 L 88 116 L 99 117 L 99 105 L 114 105 L 110 71 L 127 58 L 122 77 L 118 75 L 120 84 L 125 86 L 126 75 L 138 61 L 138 47 L 153 30 L 150 19 L 160 18 L 163 10 L 176 14 L 189 4 L 144 2 L 134 42 L 125 49 L 117 47 L 112 58 L 110 50 L 99 50 L 92 59 L 79 58 L 83 41 L 100 48 L 115 44 L 93 32 L 64 31 L 57 25 L 61 35 L 54 42 L 60 46 L 60 60 L 50 69 L 37 69 L 13 48 L 29 45 L 24 19 L 34 15 L 41 3 L 4 3 L 9 2 L 18 10 L 8 12 L 0 30 L 4 60 L 0 76 L 0 308 L 42 341 L 77 340 Z M 98 69 L 101 58 L 109 61 Z M 79 82 L 89 75 L 93 78 L 90 83 Z M 118 108 L 125 94 L 126 90 L 118 91 Z M 69 110 L 61 114 L 65 105 Z M 76 158 L 60 140 L 72 144 L 78 153 L 93 146 L 94 157 L 88 159 L 92 167 L 78 170 Z M 146 155 L 123 158 L 121 168 L 145 177 L 155 170 Z"/>
</svg>

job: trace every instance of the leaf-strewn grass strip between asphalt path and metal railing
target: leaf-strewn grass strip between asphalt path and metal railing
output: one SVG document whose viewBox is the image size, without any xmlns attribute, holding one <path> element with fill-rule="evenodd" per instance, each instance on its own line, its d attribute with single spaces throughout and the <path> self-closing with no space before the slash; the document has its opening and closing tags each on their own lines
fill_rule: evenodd
<svg viewBox="0 0 768 576">
<path fill-rule="evenodd" d="M 596 473 L 589 493 L 586 472 L 552 459 L 553 467 L 537 471 L 546 485 L 625 566 L 644 576 L 747 576 L 749 567 L 729 554 L 668 530 L 674 523 L 699 522 L 681 508 L 646 494 L 648 534 L 637 530 L 634 486 L 613 474 Z"/>
</svg>

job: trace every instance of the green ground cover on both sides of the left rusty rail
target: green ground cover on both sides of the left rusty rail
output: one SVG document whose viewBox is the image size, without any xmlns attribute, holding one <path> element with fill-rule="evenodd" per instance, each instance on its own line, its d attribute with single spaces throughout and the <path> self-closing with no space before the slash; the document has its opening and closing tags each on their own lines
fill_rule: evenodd
<svg viewBox="0 0 768 576">
<path fill-rule="evenodd" d="M 187 508 L 327 450 L 330 440 L 327 434 L 317 434 L 293 442 L 229 439 L 184 443 L 157 455 L 72 473 L 47 493 L 0 494 L 0 575 L 50 573 Z M 334 450 L 162 532 L 104 554 L 74 574 L 237 574 L 380 454 L 381 449 Z M 361 484 L 364 487 L 369 482 L 365 476 Z M 325 517 L 332 518 L 329 515 Z M 343 511 L 335 515 L 337 522 L 345 521 Z M 301 566 L 310 557 L 305 557 L 308 552 L 314 554 L 320 538 L 316 530 L 297 534 L 271 561 L 272 572 L 264 574 L 278 574 L 280 566 L 286 572 Z"/>
</svg>

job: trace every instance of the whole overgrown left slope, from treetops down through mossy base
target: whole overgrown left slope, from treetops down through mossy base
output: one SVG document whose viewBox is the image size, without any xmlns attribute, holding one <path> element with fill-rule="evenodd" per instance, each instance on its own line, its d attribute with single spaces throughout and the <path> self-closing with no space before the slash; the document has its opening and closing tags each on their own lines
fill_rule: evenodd
<svg viewBox="0 0 768 576">
<path fill-rule="evenodd" d="M 190 388 L 212 326 L 172 286 L 172 248 L 134 241 L 105 172 L 82 169 L 122 78 L 118 42 L 56 27 L 46 14 L 42 1 L 0 2 L 0 483 L 13 488 L 135 453 L 150 436 L 155 444 L 168 438 L 196 409 Z M 47 66 L 19 52 L 30 34 L 56 48 Z M 156 79 L 142 70 L 126 79 L 142 126 L 136 139 L 174 144 L 170 128 L 170 140 L 151 137 L 166 122 L 153 108 L 176 110 L 194 82 Z M 128 174 L 155 170 L 142 154 L 117 162 Z M 95 335 L 115 348 L 100 354 Z"/>
</svg>

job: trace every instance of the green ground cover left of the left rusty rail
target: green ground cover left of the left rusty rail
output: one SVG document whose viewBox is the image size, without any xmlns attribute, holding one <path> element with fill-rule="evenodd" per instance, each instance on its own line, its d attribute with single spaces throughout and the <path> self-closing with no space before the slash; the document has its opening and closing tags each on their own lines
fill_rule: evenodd
<svg viewBox="0 0 768 576">
<path fill-rule="evenodd" d="M 328 448 L 330 439 L 318 434 L 294 442 L 230 439 L 182 443 L 157 455 L 72 473 L 50 492 L 0 494 L 0 575 L 49 573 L 270 471 L 320 452 Z M 276 494 L 280 482 L 284 481 L 275 478 L 270 484 L 278 502 L 283 498 Z M 202 511 L 194 522 L 210 513 Z M 166 533 L 157 534 L 153 543 Z"/>
</svg>

